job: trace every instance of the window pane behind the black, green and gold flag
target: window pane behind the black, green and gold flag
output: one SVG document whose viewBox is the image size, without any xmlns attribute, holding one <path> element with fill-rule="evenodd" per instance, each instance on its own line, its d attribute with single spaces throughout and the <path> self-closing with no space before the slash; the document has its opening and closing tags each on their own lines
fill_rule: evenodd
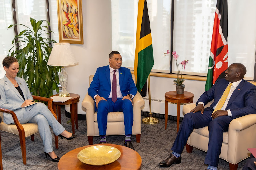
<svg viewBox="0 0 256 170">
<path fill-rule="evenodd" d="M 112 0 L 112 49 L 121 53 L 122 66 L 134 69 L 138 0 Z M 170 72 L 170 0 L 147 0 L 153 43 L 153 71 Z"/>
</svg>

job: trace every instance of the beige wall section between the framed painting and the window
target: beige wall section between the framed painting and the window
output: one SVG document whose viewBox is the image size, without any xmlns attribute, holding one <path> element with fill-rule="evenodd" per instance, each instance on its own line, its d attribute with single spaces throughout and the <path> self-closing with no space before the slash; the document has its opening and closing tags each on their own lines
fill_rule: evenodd
<svg viewBox="0 0 256 170">
<path fill-rule="evenodd" d="M 85 114 L 82 101 L 88 90 L 89 75 L 97 67 L 108 65 L 112 50 L 111 0 L 82 1 L 84 44 L 71 44 L 78 65 L 69 66 L 67 90 L 80 95 L 78 114 Z M 70 107 L 66 107 L 70 112 Z"/>
</svg>

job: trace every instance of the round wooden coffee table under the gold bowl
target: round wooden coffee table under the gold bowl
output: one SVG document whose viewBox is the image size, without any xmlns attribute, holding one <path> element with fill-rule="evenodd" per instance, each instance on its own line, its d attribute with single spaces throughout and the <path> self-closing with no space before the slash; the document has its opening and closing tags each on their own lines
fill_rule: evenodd
<svg viewBox="0 0 256 170">
<path fill-rule="evenodd" d="M 81 162 L 77 158 L 77 154 L 85 148 L 95 146 L 95 145 L 108 145 L 115 147 L 120 150 L 121 156 L 113 163 L 103 166 L 92 166 L 87 165 Z M 79 170 L 79 169 L 93 169 L 93 170 L 132 170 L 132 169 L 140 169 L 141 168 L 141 157 L 138 152 L 132 150 L 131 148 L 115 145 L 115 144 L 95 144 L 95 145 L 87 145 L 84 147 L 76 148 L 72 151 L 69 151 L 65 155 L 63 155 L 58 163 L 59 170 Z"/>
</svg>

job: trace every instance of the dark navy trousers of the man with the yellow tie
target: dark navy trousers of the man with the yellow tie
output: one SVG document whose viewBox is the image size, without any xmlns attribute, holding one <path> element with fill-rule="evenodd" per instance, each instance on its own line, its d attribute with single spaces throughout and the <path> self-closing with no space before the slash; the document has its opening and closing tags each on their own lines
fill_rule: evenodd
<svg viewBox="0 0 256 170">
<path fill-rule="evenodd" d="M 204 163 L 218 167 L 223 132 L 228 131 L 228 126 L 233 118 L 231 116 L 220 116 L 212 119 L 212 112 L 213 109 L 205 109 L 203 114 L 201 114 L 201 111 L 187 113 L 182 120 L 171 150 L 181 154 L 193 129 L 208 126 L 209 142 Z"/>
</svg>

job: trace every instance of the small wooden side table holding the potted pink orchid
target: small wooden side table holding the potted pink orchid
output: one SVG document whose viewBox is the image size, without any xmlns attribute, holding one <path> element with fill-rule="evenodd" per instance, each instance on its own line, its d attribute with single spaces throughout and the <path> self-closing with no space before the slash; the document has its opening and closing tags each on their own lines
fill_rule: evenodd
<svg viewBox="0 0 256 170">
<path fill-rule="evenodd" d="M 165 129 L 168 118 L 168 102 L 177 103 L 177 133 L 180 124 L 180 107 L 181 103 L 193 103 L 194 94 L 184 91 L 183 94 L 177 94 L 176 91 L 169 91 L 165 93 Z"/>
</svg>

